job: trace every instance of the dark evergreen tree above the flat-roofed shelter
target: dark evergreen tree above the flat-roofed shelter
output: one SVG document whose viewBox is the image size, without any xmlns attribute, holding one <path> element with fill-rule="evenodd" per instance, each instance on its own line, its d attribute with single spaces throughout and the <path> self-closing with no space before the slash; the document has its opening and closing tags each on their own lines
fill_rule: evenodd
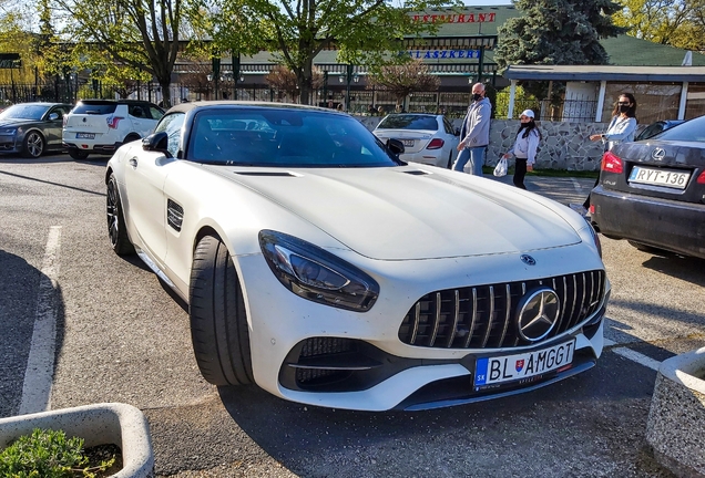
<svg viewBox="0 0 705 478">
<path fill-rule="evenodd" d="M 612 14 L 622 6 L 612 0 L 517 0 L 523 12 L 498 29 L 494 60 L 510 64 L 606 64 L 600 40 L 625 29 Z"/>
</svg>

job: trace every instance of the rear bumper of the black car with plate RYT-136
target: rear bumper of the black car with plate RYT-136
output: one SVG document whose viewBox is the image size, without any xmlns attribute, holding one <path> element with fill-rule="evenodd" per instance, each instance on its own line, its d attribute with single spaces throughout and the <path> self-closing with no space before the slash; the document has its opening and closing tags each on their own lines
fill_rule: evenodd
<svg viewBox="0 0 705 478">
<path fill-rule="evenodd" d="M 604 189 L 592 190 L 591 221 L 599 232 L 705 259 L 705 204 Z"/>
</svg>

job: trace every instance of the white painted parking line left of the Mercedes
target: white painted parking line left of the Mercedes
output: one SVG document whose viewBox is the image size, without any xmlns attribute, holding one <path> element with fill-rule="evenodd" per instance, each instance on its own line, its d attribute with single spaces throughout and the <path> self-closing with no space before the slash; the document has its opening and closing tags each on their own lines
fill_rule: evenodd
<svg viewBox="0 0 705 478">
<path fill-rule="evenodd" d="M 54 373 L 57 343 L 57 278 L 59 277 L 59 249 L 61 226 L 49 229 L 49 238 L 42 261 L 37 316 L 32 343 L 24 371 L 20 415 L 50 409 L 51 384 Z"/>
</svg>

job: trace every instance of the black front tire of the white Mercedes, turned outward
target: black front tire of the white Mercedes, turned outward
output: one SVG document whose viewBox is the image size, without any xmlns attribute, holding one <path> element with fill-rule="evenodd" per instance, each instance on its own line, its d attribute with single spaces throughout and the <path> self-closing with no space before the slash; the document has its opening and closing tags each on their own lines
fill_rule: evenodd
<svg viewBox="0 0 705 478">
<path fill-rule="evenodd" d="M 233 258 L 213 236 L 198 242 L 191 269 L 188 315 L 203 377 L 214 385 L 254 382 L 245 300 Z"/>
</svg>

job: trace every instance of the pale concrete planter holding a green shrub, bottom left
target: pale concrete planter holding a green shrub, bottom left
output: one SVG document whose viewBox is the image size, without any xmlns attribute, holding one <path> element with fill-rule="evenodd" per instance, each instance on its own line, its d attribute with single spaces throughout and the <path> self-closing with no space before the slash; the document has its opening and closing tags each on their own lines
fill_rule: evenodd
<svg viewBox="0 0 705 478">
<path fill-rule="evenodd" d="M 117 445 L 123 467 L 112 478 L 149 478 L 154 454 L 146 418 L 139 408 L 119 403 L 86 405 L 0 418 L 0 449 L 34 428 L 64 430 L 83 438 L 85 447 Z"/>
</svg>

